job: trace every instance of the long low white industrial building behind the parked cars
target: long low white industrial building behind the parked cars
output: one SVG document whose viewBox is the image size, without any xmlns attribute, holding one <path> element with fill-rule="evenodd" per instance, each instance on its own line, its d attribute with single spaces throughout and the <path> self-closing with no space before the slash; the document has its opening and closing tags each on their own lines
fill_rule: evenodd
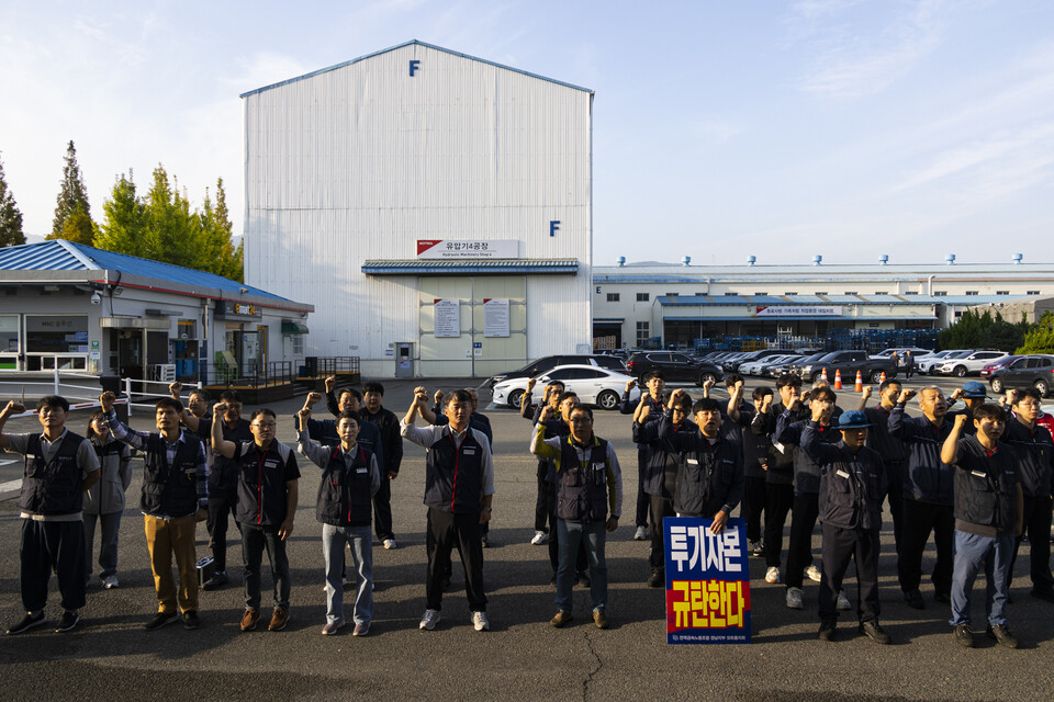
<svg viewBox="0 0 1054 702">
<path fill-rule="evenodd" d="M 822 338 L 937 330 L 976 306 L 1003 308 L 1054 292 L 1054 264 L 743 265 L 626 263 L 593 269 L 593 336 L 607 348 L 692 347 L 722 337 Z M 1007 307 L 1009 310 L 1010 308 Z M 932 336 L 932 335 L 931 335 Z"/>
</svg>

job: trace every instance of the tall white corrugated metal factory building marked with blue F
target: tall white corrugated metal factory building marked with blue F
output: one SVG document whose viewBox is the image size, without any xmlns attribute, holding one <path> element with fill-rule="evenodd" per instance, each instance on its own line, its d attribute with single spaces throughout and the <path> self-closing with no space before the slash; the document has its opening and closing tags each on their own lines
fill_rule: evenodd
<svg viewBox="0 0 1054 702">
<path fill-rule="evenodd" d="M 242 98 L 245 280 L 315 306 L 309 354 L 485 376 L 588 348 L 592 91 L 414 41 Z"/>
</svg>

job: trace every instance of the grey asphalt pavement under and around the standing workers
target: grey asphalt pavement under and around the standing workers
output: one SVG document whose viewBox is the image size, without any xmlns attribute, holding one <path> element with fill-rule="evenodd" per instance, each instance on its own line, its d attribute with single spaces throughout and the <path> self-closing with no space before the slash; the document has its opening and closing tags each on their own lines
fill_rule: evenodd
<svg viewBox="0 0 1054 702">
<path fill-rule="evenodd" d="M 910 387 L 923 383 L 912 382 Z M 417 381 L 385 381 L 385 407 L 402 415 Z M 431 389 L 478 385 L 479 381 L 428 382 Z M 748 381 L 752 388 L 758 381 Z M 951 392 L 953 382 L 940 383 Z M 689 388 L 691 389 L 691 388 Z M 698 392 L 698 388 L 696 388 Z M 839 395 L 854 406 L 851 387 Z M 489 393 L 481 390 L 486 401 Z M 272 405 L 279 438 L 292 442 L 292 414 L 302 398 Z M 246 415 L 253 408 L 246 408 Z M 484 581 L 492 631 L 476 633 L 469 621 L 463 576 L 455 566 L 434 632 L 417 630 L 424 611 L 424 450 L 406 443 L 393 484 L 399 548 L 374 544 L 375 614 L 370 635 L 323 637 L 325 597 L 321 525 L 314 519 L 318 471 L 301 461 L 300 508 L 289 544 L 293 573 L 292 619 L 279 633 L 242 633 L 240 545 L 229 546 L 233 585 L 201 593 L 199 631 L 170 625 L 146 632 L 156 610 L 143 522 L 137 509 L 139 472 L 128 489 L 121 526 L 121 588 L 89 586 L 83 623 L 72 633 L 38 627 L 0 636 L 0 690 L 7 699 L 47 700 L 1050 700 L 1054 690 L 1054 604 L 1029 596 L 1028 545 L 1018 561 L 1010 625 L 1021 648 L 1009 650 L 978 636 L 974 650 L 952 641 L 948 605 L 933 601 L 923 578 L 927 609 L 909 609 L 896 582 L 892 524 L 883 531 L 879 574 L 882 623 L 894 645 L 878 646 L 855 632 L 854 616 L 842 616 L 839 639 L 816 639 L 817 584 L 806 580 L 804 611 L 784 604 L 784 586 L 764 582 L 764 561 L 751 558 L 753 643 L 671 646 L 665 643 L 663 591 L 644 585 L 648 543 L 632 540 L 636 450 L 630 419 L 597 412 L 596 432 L 613 441 L 625 477 L 624 519 L 608 537 L 612 629 L 596 630 L 588 618 L 588 591 L 575 588 L 575 620 L 564 630 L 548 625 L 554 613 L 546 547 L 534 534 L 536 462 L 527 453 L 530 426 L 507 408 L 485 409 L 494 428 L 497 492 L 486 550 Z M 81 431 L 86 412 L 70 427 Z M 132 424 L 152 429 L 146 410 Z M 5 431 L 32 431 L 35 419 L 15 419 Z M 21 475 L 21 457 L 0 455 L 0 486 Z M 139 468 L 141 463 L 134 463 Z M 0 494 L 0 625 L 22 615 L 19 597 L 16 491 Z M 233 529 L 229 533 L 237 534 Z M 814 537 L 819 555 L 819 530 Z M 784 546 L 786 547 L 786 545 Z M 98 545 L 96 547 L 98 554 Z M 199 557 L 208 555 L 204 523 Z M 932 545 L 924 571 L 932 567 Z M 852 569 L 851 569 L 852 573 Z M 265 608 L 270 577 L 264 576 Z M 975 589 L 975 622 L 984 622 L 984 578 Z M 846 578 L 855 605 L 855 587 Z M 352 591 L 346 590 L 350 614 Z M 49 623 L 60 614 L 52 579 Z M 983 626 L 980 626 L 983 630 Z"/>
</svg>

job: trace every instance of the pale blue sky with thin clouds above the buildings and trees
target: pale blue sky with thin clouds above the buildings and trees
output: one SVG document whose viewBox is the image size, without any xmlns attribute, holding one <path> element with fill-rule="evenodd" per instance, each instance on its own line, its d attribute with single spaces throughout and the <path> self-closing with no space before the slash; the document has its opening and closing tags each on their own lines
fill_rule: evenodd
<svg viewBox="0 0 1054 702">
<path fill-rule="evenodd" d="M 5 2 L 26 234 L 69 139 L 97 220 L 160 162 L 239 233 L 238 94 L 412 38 L 596 91 L 598 263 L 1054 260 L 1050 0 Z"/>
</svg>

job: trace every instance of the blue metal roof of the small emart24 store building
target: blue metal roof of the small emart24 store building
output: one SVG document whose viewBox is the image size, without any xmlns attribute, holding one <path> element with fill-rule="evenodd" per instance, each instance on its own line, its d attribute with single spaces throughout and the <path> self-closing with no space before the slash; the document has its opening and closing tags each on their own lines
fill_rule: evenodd
<svg viewBox="0 0 1054 702">
<path fill-rule="evenodd" d="M 0 271 L 121 271 L 130 275 L 142 275 L 143 278 L 153 278 L 181 285 L 213 287 L 235 295 L 240 294 L 244 290 L 246 293 L 259 297 L 293 302 L 214 273 L 195 271 L 191 268 L 161 263 L 160 261 L 150 261 L 125 253 L 103 251 L 65 239 L 53 239 L 40 244 L 25 244 L 0 249 Z"/>
</svg>

